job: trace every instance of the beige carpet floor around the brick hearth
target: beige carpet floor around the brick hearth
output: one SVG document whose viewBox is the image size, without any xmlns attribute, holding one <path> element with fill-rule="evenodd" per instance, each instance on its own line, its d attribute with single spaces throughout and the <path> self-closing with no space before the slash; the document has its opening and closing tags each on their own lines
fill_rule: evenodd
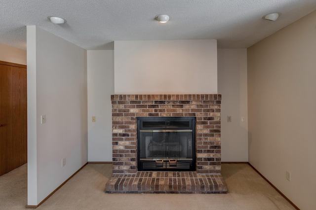
<svg viewBox="0 0 316 210">
<path fill-rule="evenodd" d="M 111 164 L 88 164 L 38 210 L 293 210 L 247 164 L 222 164 L 228 194 L 106 194 Z M 27 165 L 0 176 L 0 210 L 25 209 Z"/>
</svg>

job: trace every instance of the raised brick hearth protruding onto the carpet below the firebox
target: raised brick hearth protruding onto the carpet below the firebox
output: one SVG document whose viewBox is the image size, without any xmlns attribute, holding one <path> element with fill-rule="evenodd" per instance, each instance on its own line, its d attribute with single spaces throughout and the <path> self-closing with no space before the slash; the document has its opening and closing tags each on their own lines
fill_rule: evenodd
<svg viewBox="0 0 316 210">
<path fill-rule="evenodd" d="M 107 193 L 227 193 L 221 175 L 196 172 L 137 172 L 114 175 L 106 185 Z"/>
</svg>

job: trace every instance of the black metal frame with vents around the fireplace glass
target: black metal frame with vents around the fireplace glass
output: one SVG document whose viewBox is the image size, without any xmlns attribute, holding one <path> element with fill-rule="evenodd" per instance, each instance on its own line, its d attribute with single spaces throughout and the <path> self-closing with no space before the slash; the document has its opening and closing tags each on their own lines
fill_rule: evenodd
<svg viewBox="0 0 316 210">
<path fill-rule="evenodd" d="M 146 126 L 143 126 L 145 122 Z M 162 127 L 163 122 L 165 123 Z M 145 125 L 144 124 L 144 125 Z M 192 158 L 140 158 L 140 132 L 164 130 L 166 132 L 191 131 Z M 145 131 L 146 132 L 146 131 Z M 189 141 L 189 140 L 188 140 Z M 189 143 L 189 142 L 188 142 Z M 196 117 L 137 117 L 137 170 L 138 171 L 196 171 Z"/>
</svg>

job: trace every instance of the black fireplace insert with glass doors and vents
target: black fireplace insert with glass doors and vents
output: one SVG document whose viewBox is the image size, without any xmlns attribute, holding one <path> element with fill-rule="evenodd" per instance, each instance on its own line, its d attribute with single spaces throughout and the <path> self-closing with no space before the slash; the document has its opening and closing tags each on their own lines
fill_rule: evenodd
<svg viewBox="0 0 316 210">
<path fill-rule="evenodd" d="M 195 117 L 137 117 L 138 171 L 196 171 Z"/>
</svg>

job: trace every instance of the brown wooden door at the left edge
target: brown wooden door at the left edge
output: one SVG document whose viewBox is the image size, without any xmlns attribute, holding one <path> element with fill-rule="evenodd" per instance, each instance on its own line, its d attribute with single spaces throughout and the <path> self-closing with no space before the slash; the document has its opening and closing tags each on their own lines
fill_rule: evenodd
<svg viewBox="0 0 316 210">
<path fill-rule="evenodd" d="M 26 66 L 0 61 L 0 175 L 26 162 Z"/>
</svg>

